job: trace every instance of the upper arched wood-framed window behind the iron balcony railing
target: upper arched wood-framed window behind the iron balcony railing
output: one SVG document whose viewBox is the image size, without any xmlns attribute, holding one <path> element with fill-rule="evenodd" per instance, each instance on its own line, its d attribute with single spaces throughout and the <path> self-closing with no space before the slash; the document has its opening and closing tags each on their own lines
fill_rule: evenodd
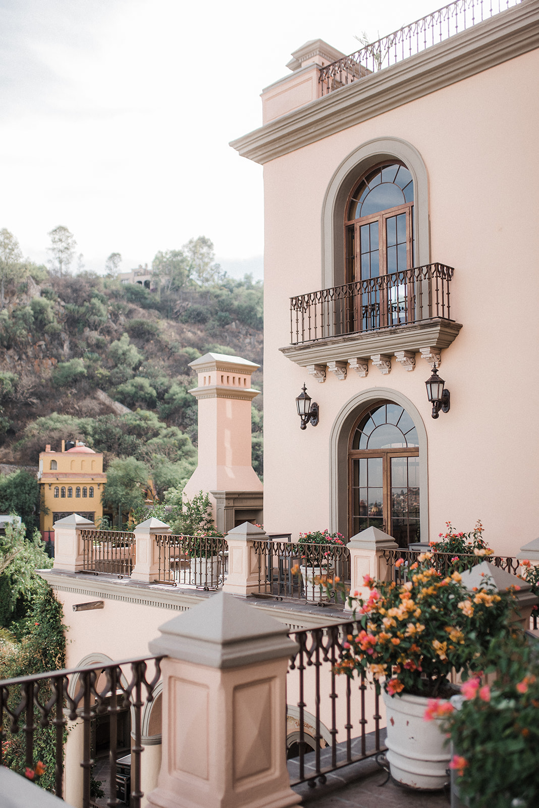
<svg viewBox="0 0 539 808">
<path fill-rule="evenodd" d="M 413 319 L 402 273 L 414 266 L 414 183 L 403 163 L 375 166 L 353 187 L 345 208 L 346 283 L 367 281 L 349 313 L 353 330 Z"/>
</svg>

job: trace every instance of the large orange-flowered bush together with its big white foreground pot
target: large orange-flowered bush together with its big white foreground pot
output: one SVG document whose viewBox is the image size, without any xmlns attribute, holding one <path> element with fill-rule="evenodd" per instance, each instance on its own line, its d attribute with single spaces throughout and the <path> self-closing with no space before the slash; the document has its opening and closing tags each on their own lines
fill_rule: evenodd
<svg viewBox="0 0 539 808">
<path fill-rule="evenodd" d="M 336 672 L 361 672 L 383 687 L 387 760 L 395 780 L 442 788 L 449 748 L 439 717 L 424 725 L 428 699 L 447 703 L 456 692 L 451 676 L 478 670 L 493 638 L 508 630 L 510 601 L 487 589 L 467 591 L 456 570 L 443 577 L 431 553 L 412 564 L 406 583 L 375 582 L 368 575 L 364 583 L 369 598 L 350 599 L 359 630 L 349 635 Z"/>
</svg>

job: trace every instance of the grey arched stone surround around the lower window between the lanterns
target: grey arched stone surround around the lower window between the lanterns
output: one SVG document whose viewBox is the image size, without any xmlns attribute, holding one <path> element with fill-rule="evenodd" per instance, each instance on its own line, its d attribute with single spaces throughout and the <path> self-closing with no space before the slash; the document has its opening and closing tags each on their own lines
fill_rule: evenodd
<svg viewBox="0 0 539 808">
<path fill-rule="evenodd" d="M 329 523 L 331 531 L 348 536 L 348 444 L 350 430 L 362 410 L 381 400 L 407 410 L 416 425 L 420 450 L 420 533 L 428 541 L 427 430 L 417 407 L 398 390 L 372 387 L 357 393 L 341 407 L 329 435 Z M 349 537 L 350 538 L 350 537 Z"/>
</svg>

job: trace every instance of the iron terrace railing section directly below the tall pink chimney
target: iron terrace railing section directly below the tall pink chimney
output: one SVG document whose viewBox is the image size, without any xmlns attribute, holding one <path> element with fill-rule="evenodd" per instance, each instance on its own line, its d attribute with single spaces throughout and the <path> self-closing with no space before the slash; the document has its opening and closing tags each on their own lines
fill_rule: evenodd
<svg viewBox="0 0 539 808">
<path fill-rule="evenodd" d="M 219 589 L 227 573 L 228 544 L 222 537 L 154 536 L 158 547 L 159 583 Z"/>
</svg>

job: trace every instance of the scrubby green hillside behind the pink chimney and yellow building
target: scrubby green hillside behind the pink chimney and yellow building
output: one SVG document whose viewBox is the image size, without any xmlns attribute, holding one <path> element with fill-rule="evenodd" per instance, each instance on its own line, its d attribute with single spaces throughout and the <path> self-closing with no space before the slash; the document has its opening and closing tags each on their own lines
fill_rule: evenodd
<svg viewBox="0 0 539 808">
<path fill-rule="evenodd" d="M 262 364 L 262 286 L 249 276 L 165 286 L 150 292 L 111 276 L 43 270 L 6 288 L 0 463 L 37 465 L 45 443 L 59 448 L 62 438 L 79 439 L 104 452 L 106 464 L 115 457 L 150 467 L 167 461 L 182 465 L 185 478 L 197 438 L 188 364 L 207 351 Z M 262 388 L 261 370 L 253 385 Z M 261 473 L 261 396 L 253 432 Z"/>
</svg>

